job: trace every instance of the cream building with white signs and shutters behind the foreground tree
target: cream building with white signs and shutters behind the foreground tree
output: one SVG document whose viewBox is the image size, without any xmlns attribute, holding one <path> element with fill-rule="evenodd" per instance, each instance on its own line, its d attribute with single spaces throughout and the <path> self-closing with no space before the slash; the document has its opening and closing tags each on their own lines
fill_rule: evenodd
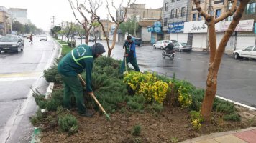
<svg viewBox="0 0 256 143">
<path fill-rule="evenodd" d="M 201 3 L 201 8 L 203 11 L 206 11 L 211 16 L 218 18 L 221 14 L 224 14 L 231 8 L 232 4 L 229 3 L 228 0 L 212 0 L 204 1 Z M 253 28 L 255 25 L 255 7 L 256 1 L 251 0 L 249 4 L 247 4 L 244 14 L 242 16 L 237 29 L 234 34 L 230 37 L 228 44 L 226 46 L 226 52 L 232 54 L 232 51 L 235 49 L 243 49 L 246 46 L 255 45 L 255 33 L 253 32 Z M 216 29 L 216 44 L 219 45 L 222 37 L 224 36 L 224 32 L 227 30 L 230 21 L 232 21 L 232 16 L 229 16 L 224 21 L 220 21 L 215 25 Z M 198 14 L 196 10 L 196 6 L 191 1 L 191 11 L 188 22 L 184 24 L 184 33 L 188 34 L 188 39 L 194 49 L 207 49 L 208 44 L 208 34 L 207 34 L 207 25 L 204 24 L 204 18 Z M 178 40 L 179 41 L 179 40 Z"/>
</svg>

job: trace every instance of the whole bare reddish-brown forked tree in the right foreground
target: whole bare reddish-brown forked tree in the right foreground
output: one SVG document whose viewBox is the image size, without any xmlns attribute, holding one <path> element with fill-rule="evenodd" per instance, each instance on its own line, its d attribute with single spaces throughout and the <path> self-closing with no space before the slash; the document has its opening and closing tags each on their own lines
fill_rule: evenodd
<svg viewBox="0 0 256 143">
<path fill-rule="evenodd" d="M 206 93 L 204 95 L 204 101 L 201 109 L 201 114 L 203 115 L 204 119 L 206 119 L 206 122 L 209 122 L 211 117 L 211 110 L 217 89 L 217 75 L 219 66 L 221 64 L 222 55 L 224 53 L 227 42 L 229 41 L 230 36 L 232 36 L 234 29 L 236 29 L 237 25 L 239 24 L 239 21 L 242 18 L 242 14 L 244 12 L 244 8 L 249 1 L 250 0 L 240 0 L 239 6 L 237 7 L 237 0 L 229 0 L 229 2 L 232 3 L 232 8 L 229 9 L 229 11 L 227 11 L 225 14 L 222 14 L 215 19 L 214 16 L 206 14 L 205 11 L 202 11 L 200 0 L 193 0 L 194 4 L 196 4 L 196 9 L 198 10 L 199 14 L 201 14 L 201 16 L 206 19 L 206 24 L 209 28 L 209 73 L 206 81 Z M 229 28 L 225 32 L 217 48 L 215 24 L 226 19 L 228 16 L 232 16 L 233 14 L 233 20 L 231 21 Z"/>
</svg>

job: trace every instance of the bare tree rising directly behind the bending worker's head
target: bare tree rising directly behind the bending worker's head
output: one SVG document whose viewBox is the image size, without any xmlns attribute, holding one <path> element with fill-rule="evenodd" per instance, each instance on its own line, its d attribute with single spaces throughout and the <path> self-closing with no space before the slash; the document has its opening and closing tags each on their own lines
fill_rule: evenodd
<svg viewBox="0 0 256 143">
<path fill-rule="evenodd" d="M 73 15 L 75 16 L 76 21 L 78 21 L 78 23 L 81 24 L 83 26 L 83 29 L 85 30 L 86 44 L 88 44 L 88 35 L 90 34 L 90 30 L 93 27 L 92 23 L 96 19 L 91 14 L 91 11 L 88 8 L 86 8 L 86 6 L 85 6 L 86 0 L 83 2 L 83 4 L 78 4 L 78 0 L 76 0 L 76 6 L 73 4 L 72 0 L 68 0 L 68 1 L 69 1 L 71 9 L 73 11 Z M 94 2 L 89 0 L 89 2 L 93 6 L 90 9 L 92 9 L 93 12 L 96 14 L 97 10 L 99 9 L 99 7 L 102 4 L 101 0 L 95 0 Z M 78 11 L 78 13 L 83 17 L 83 21 L 80 21 L 77 18 L 75 10 Z M 90 18 L 86 17 L 86 14 L 91 14 L 91 17 Z"/>
</svg>

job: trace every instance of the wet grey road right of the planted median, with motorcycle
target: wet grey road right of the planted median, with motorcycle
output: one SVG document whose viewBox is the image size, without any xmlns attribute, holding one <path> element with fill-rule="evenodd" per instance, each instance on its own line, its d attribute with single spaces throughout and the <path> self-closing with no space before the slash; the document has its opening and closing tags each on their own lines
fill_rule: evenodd
<svg viewBox="0 0 256 143">
<path fill-rule="evenodd" d="M 105 41 L 100 42 L 106 47 Z M 141 70 L 154 71 L 168 77 L 173 77 L 175 73 L 177 79 L 187 80 L 196 87 L 205 89 L 209 54 L 201 51 L 176 52 L 175 58 L 170 60 L 163 59 L 162 50 L 153 49 L 150 45 L 137 47 L 136 50 L 137 63 Z M 122 45 L 116 44 L 111 56 L 122 59 L 123 52 Z M 256 60 L 235 60 L 231 55 L 224 55 L 218 74 L 217 94 L 256 107 L 255 74 Z"/>
</svg>

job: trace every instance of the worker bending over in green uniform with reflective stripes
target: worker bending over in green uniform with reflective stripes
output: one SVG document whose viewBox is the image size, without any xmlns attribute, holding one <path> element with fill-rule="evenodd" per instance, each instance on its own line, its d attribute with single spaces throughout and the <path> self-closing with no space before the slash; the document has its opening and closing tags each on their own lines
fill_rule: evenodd
<svg viewBox="0 0 256 143">
<path fill-rule="evenodd" d="M 71 108 L 71 94 L 76 98 L 78 113 L 83 117 L 91 117 L 93 113 L 88 112 L 83 99 L 83 86 L 78 79 L 78 74 L 86 71 L 86 92 L 93 94 L 91 89 L 91 71 L 93 60 L 105 52 L 102 44 L 96 43 L 93 46 L 81 44 L 70 51 L 60 60 L 58 72 L 63 76 L 64 97 L 63 107 Z"/>
</svg>

